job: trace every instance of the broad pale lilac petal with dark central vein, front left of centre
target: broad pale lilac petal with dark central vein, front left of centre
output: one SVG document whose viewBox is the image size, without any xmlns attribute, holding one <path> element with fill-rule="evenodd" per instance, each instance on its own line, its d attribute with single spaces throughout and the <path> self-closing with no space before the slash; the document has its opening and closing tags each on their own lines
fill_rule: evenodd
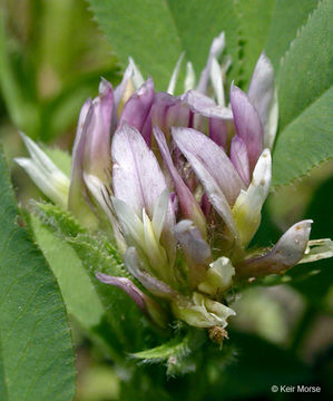
<svg viewBox="0 0 333 401">
<path fill-rule="evenodd" d="M 114 136 L 111 154 L 115 196 L 130 206 L 140 218 L 143 208 L 151 218 L 154 206 L 167 187 L 155 155 L 140 133 L 126 123 Z"/>
</svg>

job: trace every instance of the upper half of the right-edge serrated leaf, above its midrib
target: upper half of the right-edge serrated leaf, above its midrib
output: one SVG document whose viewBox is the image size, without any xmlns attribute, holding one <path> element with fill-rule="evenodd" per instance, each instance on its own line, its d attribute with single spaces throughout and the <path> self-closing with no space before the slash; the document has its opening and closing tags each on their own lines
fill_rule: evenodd
<svg viewBox="0 0 333 401">
<path fill-rule="evenodd" d="M 277 78 L 281 129 L 332 86 L 332 1 L 322 1 L 285 55 Z"/>
</svg>

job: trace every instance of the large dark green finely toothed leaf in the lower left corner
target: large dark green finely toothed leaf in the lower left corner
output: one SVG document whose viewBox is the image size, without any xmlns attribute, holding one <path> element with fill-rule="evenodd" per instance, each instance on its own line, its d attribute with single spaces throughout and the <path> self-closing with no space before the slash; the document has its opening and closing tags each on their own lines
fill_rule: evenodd
<svg viewBox="0 0 333 401">
<path fill-rule="evenodd" d="M 0 398 L 72 400 L 75 359 L 57 282 L 18 209 L 0 157 Z"/>
</svg>

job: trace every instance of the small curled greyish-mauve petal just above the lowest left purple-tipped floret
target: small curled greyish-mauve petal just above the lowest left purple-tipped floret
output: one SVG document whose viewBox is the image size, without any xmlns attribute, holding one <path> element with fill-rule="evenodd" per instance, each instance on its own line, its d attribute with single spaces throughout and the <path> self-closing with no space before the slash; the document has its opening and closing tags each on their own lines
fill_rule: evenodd
<svg viewBox="0 0 333 401">
<path fill-rule="evenodd" d="M 140 265 L 135 247 L 127 248 L 125 253 L 125 265 L 129 273 L 135 276 L 153 295 L 163 299 L 173 299 L 176 292 L 164 282 L 153 277 Z"/>
</svg>

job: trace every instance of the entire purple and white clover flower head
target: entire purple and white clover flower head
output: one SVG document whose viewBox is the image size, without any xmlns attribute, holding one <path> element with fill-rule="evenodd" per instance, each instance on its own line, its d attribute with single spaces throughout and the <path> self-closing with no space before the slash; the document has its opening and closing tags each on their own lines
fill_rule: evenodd
<svg viewBox="0 0 333 401">
<path fill-rule="evenodd" d="M 330 239 L 308 241 L 308 219 L 271 250 L 248 251 L 271 186 L 277 95 L 272 63 L 262 53 L 247 94 L 232 84 L 228 105 L 229 60 L 218 61 L 224 46 L 222 33 L 197 85 L 187 63 L 185 94 L 177 97 L 183 56 L 167 92 L 156 91 L 151 78 L 144 81 L 130 59 L 120 85 L 112 89 L 102 79 L 99 96 L 85 102 L 79 117 L 66 204 L 79 218 L 87 205 L 108 217 L 134 278 L 97 278 L 123 288 L 159 325 L 167 322 L 161 299 L 176 319 L 224 330 L 235 315 L 226 305 L 235 282 L 333 255 Z M 46 195 L 65 204 L 58 187 L 56 196 L 35 169 L 18 163 Z"/>
</svg>

